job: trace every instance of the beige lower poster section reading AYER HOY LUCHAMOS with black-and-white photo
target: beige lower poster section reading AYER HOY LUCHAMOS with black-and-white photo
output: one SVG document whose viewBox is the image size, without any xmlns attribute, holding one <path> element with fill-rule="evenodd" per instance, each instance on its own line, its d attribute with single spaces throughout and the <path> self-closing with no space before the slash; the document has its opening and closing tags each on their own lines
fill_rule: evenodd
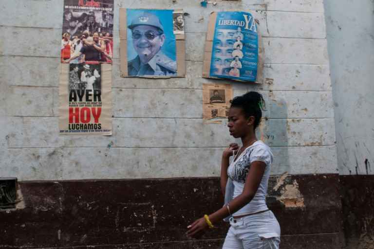
<svg viewBox="0 0 374 249">
<path fill-rule="evenodd" d="M 60 135 L 112 135 L 112 65 L 61 64 Z"/>
</svg>

